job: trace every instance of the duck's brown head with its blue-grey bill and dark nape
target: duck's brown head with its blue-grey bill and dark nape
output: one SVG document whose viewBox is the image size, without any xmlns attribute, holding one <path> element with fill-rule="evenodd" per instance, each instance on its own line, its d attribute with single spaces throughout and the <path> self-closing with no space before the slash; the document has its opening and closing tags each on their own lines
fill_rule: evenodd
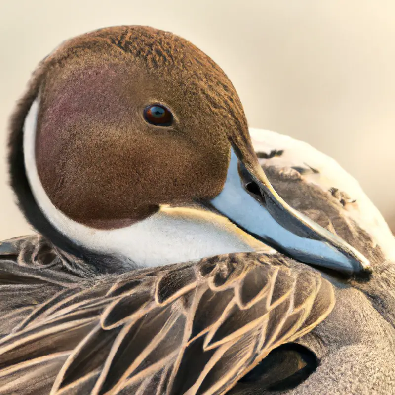
<svg viewBox="0 0 395 395">
<path fill-rule="evenodd" d="M 195 202 L 303 262 L 368 265 L 276 194 L 234 86 L 171 33 L 115 27 L 66 41 L 40 64 L 11 129 L 12 186 L 55 243 L 94 250 L 114 231 L 158 220 L 164 205 Z"/>
</svg>

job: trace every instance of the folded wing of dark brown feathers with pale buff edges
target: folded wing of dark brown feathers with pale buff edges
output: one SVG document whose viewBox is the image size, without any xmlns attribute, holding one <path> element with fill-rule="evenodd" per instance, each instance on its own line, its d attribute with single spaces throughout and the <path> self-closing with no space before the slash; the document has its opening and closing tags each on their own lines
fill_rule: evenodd
<svg viewBox="0 0 395 395">
<path fill-rule="evenodd" d="M 0 394 L 223 394 L 334 304 L 318 272 L 279 254 L 231 254 L 94 282 L 9 257 L 0 266 L 21 284 L 49 284 L 0 340 Z"/>
</svg>

